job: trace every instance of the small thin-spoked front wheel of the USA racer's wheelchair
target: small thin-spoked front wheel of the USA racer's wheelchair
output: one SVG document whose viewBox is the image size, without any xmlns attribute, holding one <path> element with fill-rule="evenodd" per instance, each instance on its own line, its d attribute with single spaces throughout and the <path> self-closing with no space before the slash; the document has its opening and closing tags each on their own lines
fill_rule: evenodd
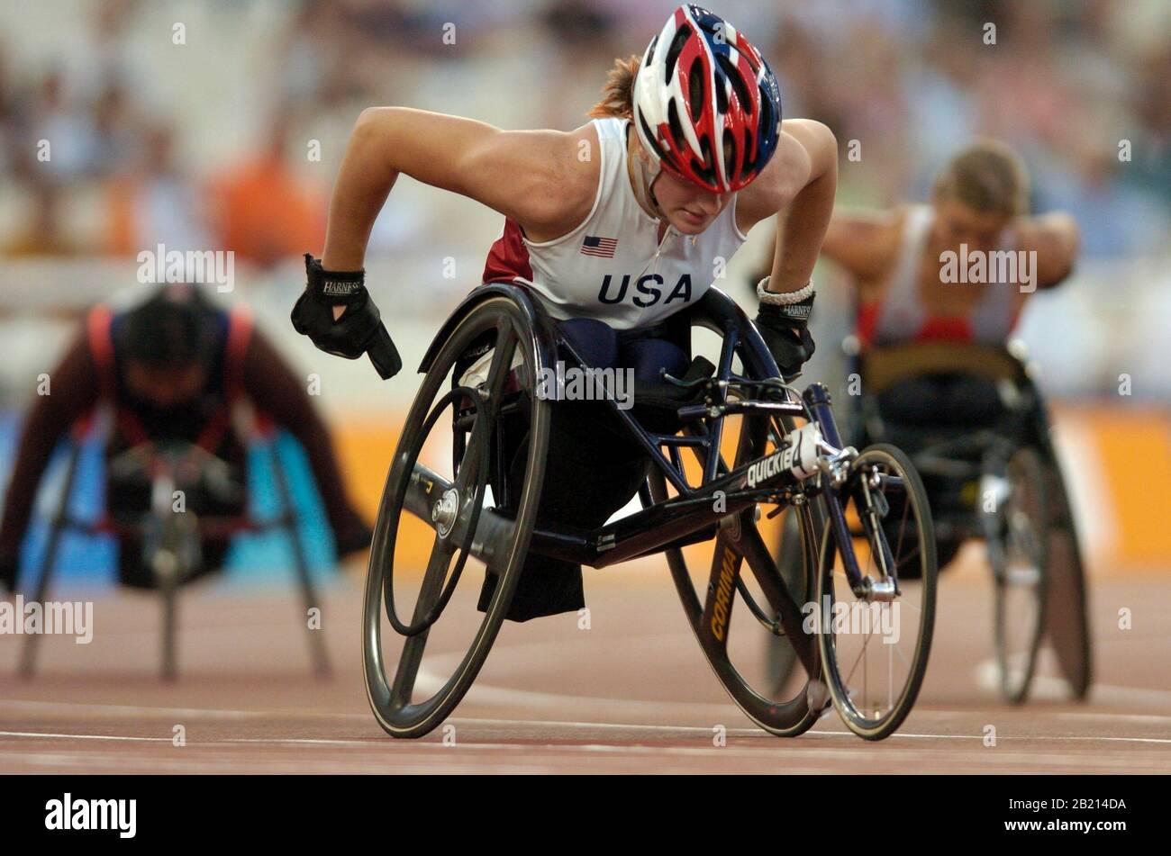
<svg viewBox="0 0 1171 856">
<path fill-rule="evenodd" d="M 819 648 L 847 727 L 881 740 L 910 713 L 926 672 L 938 574 L 934 531 L 918 472 L 903 451 L 885 443 L 858 454 L 841 502 L 858 569 L 876 584 L 893 578 L 896 594 L 854 592 L 827 526 L 815 605 Z"/>
</svg>

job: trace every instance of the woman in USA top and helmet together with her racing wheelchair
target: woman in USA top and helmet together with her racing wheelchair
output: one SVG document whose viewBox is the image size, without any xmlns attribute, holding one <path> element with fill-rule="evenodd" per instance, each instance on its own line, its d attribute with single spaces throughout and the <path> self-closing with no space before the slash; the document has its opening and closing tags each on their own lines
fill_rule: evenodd
<svg viewBox="0 0 1171 856">
<path fill-rule="evenodd" d="M 755 506 L 748 495 L 741 495 L 746 483 L 755 488 L 759 482 L 760 491 L 773 491 L 776 498 L 776 479 L 763 476 L 778 475 L 778 456 L 792 446 L 792 417 L 799 416 L 817 422 L 824 432 L 816 447 L 822 463 L 807 462 L 806 475 L 817 467 L 837 467 L 819 476 L 815 490 L 821 490 L 822 479 L 827 496 L 833 492 L 830 485 L 835 490 L 844 485 L 858 504 L 854 529 L 848 529 L 840 505 L 836 513 L 830 509 L 827 525 L 835 530 L 836 548 L 823 546 L 820 567 L 829 574 L 835 565 L 844 565 L 843 577 L 863 596 L 852 551 L 861 525 L 863 540 L 869 533 L 870 543 L 877 544 L 874 557 L 883 568 L 877 588 L 868 589 L 865 596 L 874 599 L 875 591 L 882 593 L 879 599 L 897 596 L 893 566 L 899 557 L 885 546 L 881 526 L 858 524 L 867 513 L 877 513 L 877 505 L 883 506 L 882 513 L 890 510 L 875 497 L 893 486 L 902 491 L 899 511 L 913 523 L 915 561 L 925 565 L 923 578 L 932 584 L 924 586 L 931 596 L 920 613 L 905 684 L 888 699 L 885 710 L 855 710 L 851 727 L 864 737 L 884 737 L 913 703 L 926 662 L 934 567 L 925 503 L 919 502 L 917 477 L 902 460 L 888 455 L 883 467 L 871 461 L 851 468 L 857 455 L 842 454 L 840 442 L 834 442 L 836 428 L 828 401 L 816 393 L 804 402 L 792 400 L 780 381 L 782 375 L 795 375 L 814 347 L 807 331 L 814 298 L 809 277 L 833 209 L 834 137 L 820 123 L 782 123 L 776 81 L 765 60 L 727 22 L 691 5 L 671 15 L 641 61 L 618 61 L 603 91 L 603 101 L 591 113 L 597 118 L 569 133 L 500 131 L 470 119 L 402 108 L 364 111 L 335 186 L 324 254 L 320 261 L 306 257 L 308 285 L 293 310 L 296 330 L 330 353 L 349 359 L 369 354 L 388 378 L 400 368 L 400 360 L 365 289 L 362 263 L 371 225 L 398 174 L 475 199 L 506 216 L 485 281 L 511 282 L 513 289 L 506 291 L 508 287 L 500 284 L 485 287 L 492 291 L 478 289 L 468 298 L 475 311 L 457 311 L 436 340 L 423 366 L 424 388 L 388 479 L 368 579 L 367 637 L 377 648 L 378 616 L 371 629 L 369 614 L 374 586 L 374 602 L 377 606 L 379 595 L 385 598 L 391 623 L 408 642 L 393 688 L 382 675 L 381 655 L 367 651 L 375 712 L 392 734 L 425 733 L 466 691 L 505 613 L 526 620 L 582 606 L 581 564 L 607 564 L 598 558 L 608 541 L 577 539 L 578 547 L 584 540 L 593 543 L 593 550 L 567 544 L 529 550 L 534 526 L 548 527 L 555 541 L 559 536 L 573 541 L 564 538 L 566 527 L 594 532 L 636 492 L 651 505 L 651 522 L 658 519 L 655 506 L 670 504 L 670 496 L 663 478 L 648 479 L 648 456 L 655 453 L 666 461 L 660 446 L 672 449 L 669 469 L 660 467 L 660 474 L 666 474 L 676 499 L 711 510 L 717 488 L 734 486 L 740 491 L 734 501 L 740 504 L 730 503 L 723 516 L 739 519 L 740 512 L 749 513 Z M 703 368 L 694 361 L 689 370 L 684 310 L 707 299 L 719 261 L 739 249 L 753 225 L 774 214 L 776 249 L 771 276 L 758 288 L 760 308 L 754 322 L 734 318 L 735 323 L 720 325 L 724 346 L 717 377 L 692 371 Z M 708 306 L 712 299 L 714 295 Z M 548 347 L 539 348 L 542 341 Z M 679 423 L 667 419 L 650 426 L 659 432 L 650 435 L 645 426 L 630 421 L 634 417 L 615 416 L 608 407 L 612 402 L 545 401 L 532 394 L 532 384 L 536 371 L 546 367 L 549 348 L 578 366 L 629 370 L 636 382 L 657 380 L 693 393 L 701 403 L 692 406 L 700 410 L 685 416 L 680 406 L 687 403 L 677 402 L 673 416 Z M 472 385 L 466 380 L 472 363 L 488 353 L 484 377 Z M 733 370 L 733 357 L 739 358 L 744 374 Z M 450 389 L 444 392 L 440 387 L 448 379 Z M 728 409 L 730 396 L 742 403 Z M 761 396 L 773 400 L 759 401 Z M 648 398 L 655 398 L 655 392 Z M 448 412 L 454 434 L 452 472 L 450 478 L 432 477 L 416 462 L 439 415 Z M 721 460 L 719 441 L 723 417 L 733 412 L 749 413 L 752 419 L 730 469 Z M 505 430 L 508 419 L 520 420 L 523 430 Z M 617 427 L 614 419 L 618 419 Z M 788 424 L 774 421 L 781 419 L 789 420 Z M 691 432 L 691 440 L 671 440 L 677 430 Z M 765 455 L 768 443 L 773 451 Z M 684 446 L 696 450 L 704 469 L 701 488 L 706 490 L 693 496 L 682 472 L 679 448 Z M 670 464 L 674 464 L 673 476 Z M 494 509 L 485 510 L 489 482 Z M 409 504 L 409 490 L 418 497 L 412 485 L 422 485 L 427 497 L 415 511 L 429 518 L 438 540 L 427 560 L 415 617 L 406 623 L 395 608 L 392 582 L 384 577 L 385 565 L 393 562 L 395 527 L 404 503 Z M 440 681 L 438 692 L 415 704 L 412 692 L 433 679 L 419 665 L 426 637 L 437 629 L 436 620 L 468 555 L 485 558 L 492 552 L 485 548 L 480 524 L 491 529 L 501 519 L 511 523 L 506 537 L 495 540 L 507 550 L 487 557 L 479 603 L 486 613 L 484 624 L 451 679 Z M 705 525 L 697 529 L 704 538 L 713 534 Z M 618 534 L 600 537 L 617 543 Z M 680 539 L 690 543 L 689 536 L 694 533 L 642 544 L 642 552 L 678 552 Z M 810 551 L 814 539 L 810 529 Z M 454 550 L 454 541 L 463 546 Z M 632 550 L 631 555 L 638 554 L 638 544 Z M 732 551 L 717 554 L 731 557 Z M 739 559 L 721 561 L 726 571 L 714 588 L 725 596 L 726 613 L 731 587 L 745 592 L 742 582 L 732 580 Z M 676 575 L 679 584 L 680 574 Z M 782 598 L 769 594 L 776 592 L 766 592 L 774 616 L 759 607 L 753 612 L 760 613 L 758 619 L 773 633 L 790 636 L 801 648 L 810 683 L 817 681 L 821 670 L 809 646 L 796 638 L 800 628 L 793 612 L 782 615 L 783 621 L 775 617 L 792 600 L 782 605 L 774 602 Z M 694 592 L 691 599 L 698 609 Z M 693 616 L 697 627 L 698 621 Z M 372 685 L 371 660 L 377 667 Z M 717 667 L 717 674 L 733 691 L 734 669 L 720 674 Z M 840 709 L 843 704 L 854 707 L 849 675 L 827 677 Z M 749 715 L 775 733 L 800 733 L 821 711 L 819 699 L 810 704 L 801 693 L 790 705 L 760 696 L 737 700 L 746 710 L 755 705 Z"/>
</svg>

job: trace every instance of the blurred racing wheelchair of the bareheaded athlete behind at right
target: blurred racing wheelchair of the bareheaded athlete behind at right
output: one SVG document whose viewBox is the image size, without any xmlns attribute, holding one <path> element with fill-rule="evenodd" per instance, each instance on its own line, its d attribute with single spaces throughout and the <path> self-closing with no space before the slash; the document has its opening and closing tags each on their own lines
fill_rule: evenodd
<svg viewBox="0 0 1171 856">
<path fill-rule="evenodd" d="M 1049 423 L 1020 343 L 910 343 L 860 350 L 850 436 L 905 449 L 923 477 L 940 567 L 968 539 L 987 547 L 1002 697 L 1028 697 L 1048 635 L 1073 696 L 1091 681 L 1084 571 Z M 947 410 L 919 393 L 954 384 Z M 966 386 L 965 386 L 966 385 Z M 979 399 L 984 399 L 980 401 Z M 905 403 L 912 402 L 909 409 Z"/>
</svg>

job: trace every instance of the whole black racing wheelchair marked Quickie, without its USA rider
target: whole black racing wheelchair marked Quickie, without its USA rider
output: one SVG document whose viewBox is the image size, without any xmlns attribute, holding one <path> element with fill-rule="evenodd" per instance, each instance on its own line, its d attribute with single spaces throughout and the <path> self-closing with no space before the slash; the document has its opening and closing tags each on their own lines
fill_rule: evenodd
<svg viewBox="0 0 1171 856">
<path fill-rule="evenodd" d="M 788 386 L 719 290 L 685 320 L 714 333 L 718 364 L 697 357 L 682 379 L 636 385 L 634 408 L 609 401 L 649 475 L 639 510 L 588 530 L 537 523 L 557 403 L 536 379 L 559 360 L 589 366 L 521 285 L 477 288 L 444 324 L 419 367 L 364 592 L 367 696 L 389 734 L 426 734 L 468 691 L 529 551 L 597 568 L 665 553 L 717 679 L 773 734 L 803 733 L 830 704 L 867 739 L 905 719 L 927 665 L 937 574 L 915 467 L 889 444 L 843 446 L 826 387 Z M 470 348 L 479 371 L 466 368 Z M 645 419 L 646 407 L 669 419 Z M 520 451 L 508 463 L 502 449 Z M 795 585 L 761 534 L 779 515 L 796 532 Z M 477 602 L 467 591 L 484 574 L 497 584 Z M 744 668 L 760 634 L 792 647 L 800 679 L 778 689 Z"/>
</svg>

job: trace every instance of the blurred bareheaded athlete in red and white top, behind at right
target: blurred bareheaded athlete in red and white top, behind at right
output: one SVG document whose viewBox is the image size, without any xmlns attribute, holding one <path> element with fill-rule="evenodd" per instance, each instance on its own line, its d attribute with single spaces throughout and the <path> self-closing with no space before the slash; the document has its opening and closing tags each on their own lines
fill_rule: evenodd
<svg viewBox="0 0 1171 856">
<path fill-rule="evenodd" d="M 1077 223 L 1068 214 L 1028 215 L 1028 175 L 1013 151 L 979 140 L 936 177 L 926 205 L 837 210 L 822 251 L 857 285 L 863 345 L 1002 345 L 1029 295 L 1069 275 L 1077 242 Z M 1015 282 L 998 279 L 1006 267 L 1000 264 L 984 265 L 985 282 L 954 283 L 944 276 L 950 254 L 963 264 L 1005 253 L 1035 253 L 1035 268 L 1027 258 L 1026 267 L 1012 265 Z"/>
</svg>

